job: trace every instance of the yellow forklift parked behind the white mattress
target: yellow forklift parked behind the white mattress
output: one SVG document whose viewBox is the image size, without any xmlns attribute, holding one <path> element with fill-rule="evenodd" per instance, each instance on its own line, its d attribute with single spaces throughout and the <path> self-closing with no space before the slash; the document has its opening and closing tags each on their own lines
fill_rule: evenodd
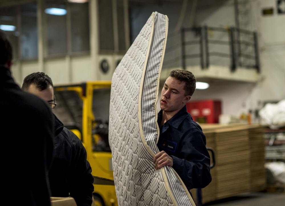
<svg viewBox="0 0 285 206">
<path fill-rule="evenodd" d="M 82 141 L 94 176 L 96 206 L 117 206 L 108 141 L 110 81 L 54 86 L 54 114 Z"/>
</svg>

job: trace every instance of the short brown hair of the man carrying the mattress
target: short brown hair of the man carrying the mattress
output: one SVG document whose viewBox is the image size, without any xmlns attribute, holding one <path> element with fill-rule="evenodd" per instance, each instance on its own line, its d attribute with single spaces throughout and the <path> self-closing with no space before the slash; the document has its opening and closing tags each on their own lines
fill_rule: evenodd
<svg viewBox="0 0 285 206">
<path fill-rule="evenodd" d="M 192 72 L 181 69 L 174 69 L 170 72 L 169 76 L 176 78 L 180 82 L 185 82 L 184 96 L 193 95 L 196 89 L 196 78 Z"/>
</svg>

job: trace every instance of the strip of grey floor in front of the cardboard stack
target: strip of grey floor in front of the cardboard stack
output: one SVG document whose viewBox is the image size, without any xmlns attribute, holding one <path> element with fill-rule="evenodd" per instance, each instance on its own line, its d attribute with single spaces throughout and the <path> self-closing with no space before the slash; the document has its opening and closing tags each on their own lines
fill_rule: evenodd
<svg viewBox="0 0 285 206">
<path fill-rule="evenodd" d="M 246 193 L 235 197 L 220 199 L 203 206 L 285 206 L 285 193 Z"/>
</svg>

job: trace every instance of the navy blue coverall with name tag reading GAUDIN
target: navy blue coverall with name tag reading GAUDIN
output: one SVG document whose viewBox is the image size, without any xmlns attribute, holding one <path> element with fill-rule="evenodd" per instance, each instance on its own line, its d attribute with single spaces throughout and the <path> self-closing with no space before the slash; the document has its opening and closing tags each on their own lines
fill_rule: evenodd
<svg viewBox="0 0 285 206">
<path fill-rule="evenodd" d="M 193 121 L 186 106 L 163 125 L 160 125 L 161 120 L 162 110 L 157 120 L 160 126 L 158 149 L 173 158 L 172 168 L 188 190 L 206 187 L 212 181 L 210 156 L 199 124 Z"/>
</svg>

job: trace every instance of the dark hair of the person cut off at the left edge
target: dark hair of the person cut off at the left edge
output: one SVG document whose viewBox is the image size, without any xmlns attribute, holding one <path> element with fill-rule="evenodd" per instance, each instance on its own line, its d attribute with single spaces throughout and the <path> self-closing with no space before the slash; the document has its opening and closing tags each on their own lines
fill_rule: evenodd
<svg viewBox="0 0 285 206">
<path fill-rule="evenodd" d="M 0 64 L 11 62 L 13 58 L 13 50 L 11 42 L 6 33 L 0 29 Z"/>
</svg>

